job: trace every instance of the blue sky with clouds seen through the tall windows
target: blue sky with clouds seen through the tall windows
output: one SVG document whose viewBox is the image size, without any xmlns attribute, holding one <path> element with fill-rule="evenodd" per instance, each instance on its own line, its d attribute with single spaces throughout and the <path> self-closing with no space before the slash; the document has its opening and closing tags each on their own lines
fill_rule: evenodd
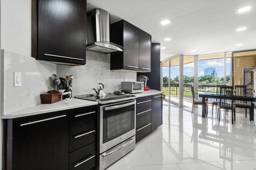
<svg viewBox="0 0 256 170">
<path fill-rule="evenodd" d="M 230 61 L 231 58 L 227 58 L 227 65 L 226 65 L 226 72 L 227 75 L 230 75 Z M 224 59 L 212 59 L 212 60 L 202 60 L 198 61 L 198 77 L 204 76 L 204 68 L 208 67 L 215 67 L 220 70 L 219 77 L 223 77 L 224 73 Z M 184 75 L 186 76 L 194 76 L 194 63 L 184 64 Z M 168 67 L 163 68 L 163 77 L 168 77 Z M 173 66 L 171 67 L 171 78 L 175 78 L 176 76 L 179 76 L 179 66 Z"/>
</svg>

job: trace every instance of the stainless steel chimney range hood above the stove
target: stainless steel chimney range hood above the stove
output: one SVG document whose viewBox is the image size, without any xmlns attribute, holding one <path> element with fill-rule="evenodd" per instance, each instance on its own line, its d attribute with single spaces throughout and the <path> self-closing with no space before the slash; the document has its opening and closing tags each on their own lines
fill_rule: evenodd
<svg viewBox="0 0 256 170">
<path fill-rule="evenodd" d="M 110 43 L 110 15 L 107 11 L 95 8 L 87 15 L 86 50 L 97 53 L 122 52 L 123 47 Z"/>
</svg>

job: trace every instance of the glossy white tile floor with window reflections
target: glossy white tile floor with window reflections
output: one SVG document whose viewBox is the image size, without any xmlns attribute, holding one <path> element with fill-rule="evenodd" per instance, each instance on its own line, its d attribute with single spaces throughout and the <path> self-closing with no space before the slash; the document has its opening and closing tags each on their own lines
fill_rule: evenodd
<svg viewBox="0 0 256 170">
<path fill-rule="evenodd" d="M 256 169 L 256 132 L 249 116 L 236 113 L 232 125 L 224 113 L 219 122 L 215 111 L 202 118 L 201 108 L 193 115 L 191 109 L 164 101 L 163 125 L 107 170 Z"/>
</svg>

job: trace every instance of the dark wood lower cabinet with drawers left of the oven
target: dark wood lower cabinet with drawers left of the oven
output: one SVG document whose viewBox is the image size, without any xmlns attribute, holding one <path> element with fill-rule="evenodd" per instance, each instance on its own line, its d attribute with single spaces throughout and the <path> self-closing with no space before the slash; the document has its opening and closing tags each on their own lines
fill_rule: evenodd
<svg viewBox="0 0 256 170">
<path fill-rule="evenodd" d="M 4 119 L 2 169 L 97 169 L 97 108 Z"/>
</svg>

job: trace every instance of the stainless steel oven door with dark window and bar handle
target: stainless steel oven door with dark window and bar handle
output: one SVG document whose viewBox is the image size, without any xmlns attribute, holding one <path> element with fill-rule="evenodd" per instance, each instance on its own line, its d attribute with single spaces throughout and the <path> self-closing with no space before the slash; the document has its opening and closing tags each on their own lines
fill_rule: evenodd
<svg viewBox="0 0 256 170">
<path fill-rule="evenodd" d="M 136 100 L 100 106 L 100 154 L 134 136 Z"/>
</svg>

